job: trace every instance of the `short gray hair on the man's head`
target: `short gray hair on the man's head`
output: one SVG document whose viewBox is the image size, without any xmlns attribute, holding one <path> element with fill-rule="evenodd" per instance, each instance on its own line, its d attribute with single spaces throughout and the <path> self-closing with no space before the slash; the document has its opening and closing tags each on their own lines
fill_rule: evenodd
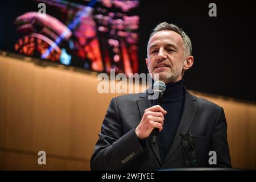
<svg viewBox="0 0 256 182">
<path fill-rule="evenodd" d="M 150 42 L 150 39 L 152 38 L 153 35 L 155 35 L 157 32 L 162 31 L 162 30 L 171 30 L 171 31 L 174 31 L 177 34 L 179 34 L 181 36 L 181 38 L 183 39 L 184 56 L 192 55 L 191 40 L 189 39 L 188 35 L 181 28 L 176 26 L 175 24 L 169 24 L 167 22 L 158 24 L 154 28 L 154 30 L 152 30 L 152 32 L 150 34 L 150 38 L 148 40 L 148 43 Z M 147 51 L 148 51 L 148 46 L 149 46 L 148 43 L 147 43 Z"/>
</svg>

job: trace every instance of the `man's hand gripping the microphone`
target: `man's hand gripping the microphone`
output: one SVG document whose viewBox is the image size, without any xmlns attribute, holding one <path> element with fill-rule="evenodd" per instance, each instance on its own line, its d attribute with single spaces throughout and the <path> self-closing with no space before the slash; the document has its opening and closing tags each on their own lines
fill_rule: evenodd
<svg viewBox="0 0 256 182">
<path fill-rule="evenodd" d="M 163 107 L 156 105 L 144 111 L 141 122 L 135 129 L 139 139 L 147 138 L 156 127 L 159 131 L 163 130 L 164 115 L 167 113 Z"/>
</svg>

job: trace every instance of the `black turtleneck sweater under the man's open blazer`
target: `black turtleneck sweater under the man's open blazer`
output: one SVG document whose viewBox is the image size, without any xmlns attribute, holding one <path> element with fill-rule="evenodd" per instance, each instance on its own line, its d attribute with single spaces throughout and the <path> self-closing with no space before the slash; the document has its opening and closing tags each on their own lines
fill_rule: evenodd
<svg viewBox="0 0 256 182">
<path fill-rule="evenodd" d="M 158 146 L 162 161 L 171 147 L 172 140 L 174 140 L 183 112 L 183 103 L 183 79 L 166 84 L 162 107 L 167 111 L 167 114 L 164 115 L 163 130 L 159 133 L 158 137 Z"/>
</svg>

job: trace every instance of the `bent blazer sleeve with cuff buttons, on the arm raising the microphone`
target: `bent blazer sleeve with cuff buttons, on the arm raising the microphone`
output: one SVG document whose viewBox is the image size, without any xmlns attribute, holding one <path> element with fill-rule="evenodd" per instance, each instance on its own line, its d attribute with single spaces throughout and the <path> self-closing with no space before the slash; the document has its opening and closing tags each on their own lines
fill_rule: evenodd
<svg viewBox="0 0 256 182">
<path fill-rule="evenodd" d="M 99 139 L 90 160 L 92 170 L 121 170 L 144 151 L 135 128 L 122 132 L 116 98 L 110 101 L 101 127 Z"/>
</svg>

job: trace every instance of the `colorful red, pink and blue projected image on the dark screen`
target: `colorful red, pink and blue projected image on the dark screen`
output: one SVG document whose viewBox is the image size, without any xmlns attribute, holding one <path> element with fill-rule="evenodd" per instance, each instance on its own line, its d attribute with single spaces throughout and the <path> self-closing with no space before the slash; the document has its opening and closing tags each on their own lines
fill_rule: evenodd
<svg viewBox="0 0 256 182">
<path fill-rule="evenodd" d="M 98 72 L 138 73 L 138 0 L 33 2 L 44 3 L 46 14 L 16 18 L 16 52 Z"/>
</svg>

